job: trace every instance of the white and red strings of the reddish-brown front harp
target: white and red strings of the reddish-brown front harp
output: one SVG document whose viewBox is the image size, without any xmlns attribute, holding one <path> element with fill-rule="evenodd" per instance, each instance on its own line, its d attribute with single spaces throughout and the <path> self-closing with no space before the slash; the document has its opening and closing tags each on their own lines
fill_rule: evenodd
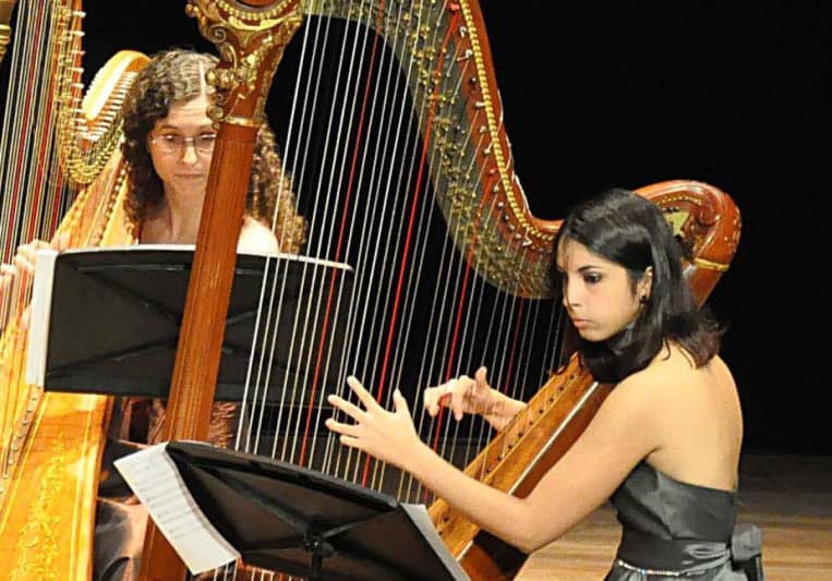
<svg viewBox="0 0 832 581">
<path fill-rule="evenodd" d="M 420 432 L 427 426 L 430 439 L 443 456 L 450 456 L 454 440 L 462 436 L 466 443 L 462 458 L 467 460 L 490 437 L 489 426 L 485 422 L 469 422 L 462 427 L 444 416 L 446 414 L 439 420 L 425 419 L 420 404 L 421 388 L 471 373 L 475 364 L 487 363 L 495 389 L 520 397 L 530 376 L 531 347 L 535 342 L 532 337 L 535 328 L 543 325 L 536 320 L 538 304 L 527 304 L 504 291 L 494 292 L 481 277 L 471 273 L 470 259 L 450 243 L 450 234 L 443 240 L 437 255 L 429 249 L 426 232 L 441 220 L 434 216 L 435 204 L 425 201 L 430 186 L 426 171 L 429 167 L 431 171 L 445 171 L 437 159 L 439 149 L 427 147 L 433 131 L 431 120 L 447 112 L 450 106 L 438 98 L 429 98 L 414 101 L 417 110 L 405 109 L 407 98 L 400 90 L 410 83 L 411 71 L 418 70 L 413 55 L 419 47 L 414 36 L 399 36 L 398 31 L 418 29 L 420 19 L 436 17 L 448 8 L 441 5 L 431 12 L 417 10 L 408 15 L 413 22 L 405 26 L 400 25 L 408 8 L 405 4 L 376 11 L 375 26 L 354 21 L 346 25 L 338 39 L 340 58 L 334 82 L 337 97 L 326 112 L 317 100 L 317 89 L 323 83 L 324 53 L 331 52 L 335 47 L 329 45 L 336 43 L 329 29 L 331 17 L 318 17 L 304 26 L 300 69 L 305 74 L 296 81 L 288 138 L 284 145 L 284 150 L 290 153 L 284 156 L 284 161 L 294 177 L 299 202 L 301 196 L 308 195 L 317 201 L 306 216 L 310 228 L 305 252 L 336 262 L 352 257 L 350 262 L 358 275 L 349 296 L 343 294 L 337 275 L 324 281 L 317 270 L 309 269 L 301 278 L 304 291 L 322 286 L 325 290 L 323 293 L 301 292 L 304 303 L 296 311 L 296 320 L 290 323 L 288 348 L 290 365 L 301 372 L 293 379 L 288 375 L 284 378 L 280 395 L 284 399 L 274 410 L 267 409 L 266 392 L 274 389 L 269 387 L 269 373 L 278 340 L 278 313 L 285 304 L 286 277 L 275 277 L 275 285 L 264 288 L 258 322 L 263 331 L 255 334 L 264 338 L 264 344 L 252 350 L 258 353 L 258 360 L 252 361 L 246 382 L 246 390 L 257 394 L 258 403 L 248 403 L 246 397 L 242 404 L 244 421 L 240 423 L 236 444 L 257 453 L 270 448 L 268 452 L 274 458 L 318 468 L 374 488 L 386 486 L 386 467 L 353 450 L 340 449 L 328 433 L 319 433 L 326 413 L 322 406 L 323 386 L 333 379 L 328 374 L 338 374 L 335 383 L 337 389 L 342 389 L 345 374 L 354 373 L 373 386 L 376 398 L 388 407 L 390 388 L 406 383 L 412 385 L 415 379 L 419 389 L 409 401 Z M 363 2 L 362 10 L 369 12 L 371 5 Z M 437 47 L 437 56 L 431 62 L 431 71 L 437 77 L 434 97 L 443 94 L 457 98 L 465 73 L 456 76 L 444 73 L 450 61 L 463 71 L 473 62 L 470 55 L 461 53 L 459 44 L 453 41 L 457 26 L 457 22 L 446 27 L 432 26 L 431 36 L 424 39 L 425 45 Z M 386 51 L 378 46 L 382 31 L 396 33 L 385 39 Z M 444 36 L 438 36 L 441 34 Z M 402 55 L 407 58 L 400 58 L 397 63 L 395 56 Z M 359 71 L 359 64 L 367 68 Z M 405 80 L 394 83 L 398 72 Z M 316 117 L 326 118 L 323 154 L 317 160 L 324 170 L 317 172 L 313 184 L 308 184 L 305 182 L 313 182 L 306 175 L 308 168 L 315 167 L 310 162 L 314 154 L 309 144 L 313 141 Z M 419 138 L 413 131 L 419 119 L 427 120 L 429 125 L 421 135 L 421 146 L 413 142 Z M 490 143 L 486 134 L 475 131 L 477 121 L 466 128 L 466 138 L 482 152 Z M 456 168 L 477 175 L 474 182 L 481 191 L 489 192 L 489 185 L 494 182 L 494 178 L 482 173 L 473 156 L 458 162 Z M 494 226 L 495 203 L 496 196 L 481 197 L 481 219 L 469 225 L 470 235 L 475 238 L 479 228 Z M 465 235 L 462 225 L 456 223 L 453 228 L 457 230 L 455 237 Z M 397 253 L 395 259 L 394 252 Z M 411 326 L 424 313 L 420 300 L 424 302 L 426 264 L 439 273 L 439 283 L 430 301 L 434 306 L 426 317 L 426 336 L 439 340 L 414 349 L 413 341 L 419 338 L 411 332 Z M 285 267 L 275 264 L 274 268 Z M 495 306 L 490 316 L 484 317 L 483 305 L 489 300 Z M 328 358 L 333 353 L 333 337 L 327 335 L 330 330 L 327 325 L 345 310 L 348 313 L 347 346 L 335 365 L 338 371 L 331 372 Z M 554 314 L 548 318 L 553 317 Z M 318 319 L 325 322 L 323 327 L 310 325 L 311 320 Z M 484 335 L 484 342 L 478 343 L 472 334 L 462 332 L 469 328 L 474 329 L 473 335 Z M 546 342 L 554 335 L 550 329 Z M 420 352 L 418 356 L 414 351 Z M 546 358 L 553 360 L 554 355 Z M 415 360 L 415 372 L 411 371 L 413 363 L 406 361 L 408 359 Z M 301 377 L 312 377 L 312 380 L 303 382 Z M 270 439 L 262 435 L 264 426 L 274 435 Z M 316 465 L 318 456 L 323 457 L 321 465 Z M 397 494 L 411 494 L 414 488 L 418 484 L 408 482 L 406 476 L 398 479 Z"/>
</svg>

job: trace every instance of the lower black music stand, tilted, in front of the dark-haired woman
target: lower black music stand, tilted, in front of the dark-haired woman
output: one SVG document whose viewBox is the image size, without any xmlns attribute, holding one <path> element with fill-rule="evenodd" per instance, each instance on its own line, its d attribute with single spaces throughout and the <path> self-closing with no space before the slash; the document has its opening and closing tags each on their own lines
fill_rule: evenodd
<svg viewBox="0 0 832 581">
<path fill-rule="evenodd" d="M 248 565 L 314 581 L 468 579 L 423 507 L 202 443 L 173 441 L 166 450 L 200 509 Z"/>
</svg>

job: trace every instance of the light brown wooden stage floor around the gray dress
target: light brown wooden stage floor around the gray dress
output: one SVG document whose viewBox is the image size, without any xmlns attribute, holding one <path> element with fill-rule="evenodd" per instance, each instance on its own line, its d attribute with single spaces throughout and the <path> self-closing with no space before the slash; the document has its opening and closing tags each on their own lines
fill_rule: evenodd
<svg viewBox="0 0 832 581">
<path fill-rule="evenodd" d="M 739 470 L 739 522 L 762 529 L 770 581 L 832 581 L 832 457 L 748 453 Z M 620 525 L 607 504 L 539 550 L 518 581 L 600 581 Z"/>
</svg>

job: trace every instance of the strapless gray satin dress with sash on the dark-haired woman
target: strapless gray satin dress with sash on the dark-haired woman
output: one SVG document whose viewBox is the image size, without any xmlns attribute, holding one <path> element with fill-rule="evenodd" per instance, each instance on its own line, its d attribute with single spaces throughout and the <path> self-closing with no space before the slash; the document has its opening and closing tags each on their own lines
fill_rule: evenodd
<svg viewBox="0 0 832 581">
<path fill-rule="evenodd" d="M 624 531 L 605 581 L 764 580 L 760 531 L 735 526 L 735 493 L 679 482 L 641 462 L 612 503 Z"/>
</svg>

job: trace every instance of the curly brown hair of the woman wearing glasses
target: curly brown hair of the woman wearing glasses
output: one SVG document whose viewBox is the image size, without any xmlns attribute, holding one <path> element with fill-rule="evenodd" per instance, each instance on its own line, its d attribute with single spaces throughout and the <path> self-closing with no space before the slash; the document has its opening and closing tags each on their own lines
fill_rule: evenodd
<svg viewBox="0 0 832 581">
<path fill-rule="evenodd" d="M 124 98 L 121 152 L 128 162 L 129 184 L 124 214 L 133 235 L 138 233 L 147 210 L 165 196 L 147 148 L 147 136 L 173 104 L 214 93 L 205 82 L 205 73 L 217 62 L 216 57 L 193 50 L 159 52 L 136 75 Z M 298 252 L 303 244 L 306 221 L 294 210 L 291 180 L 282 170 L 275 134 L 267 124 L 261 128 L 254 145 L 245 211 L 273 227 L 282 252 Z"/>
</svg>

